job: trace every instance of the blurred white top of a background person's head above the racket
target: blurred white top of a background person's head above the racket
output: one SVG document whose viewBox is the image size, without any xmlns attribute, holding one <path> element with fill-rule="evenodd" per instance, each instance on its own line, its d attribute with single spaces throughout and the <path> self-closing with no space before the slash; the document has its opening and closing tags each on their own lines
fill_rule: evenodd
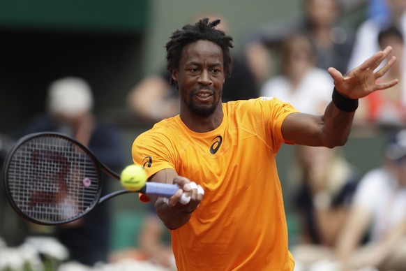
<svg viewBox="0 0 406 271">
<path fill-rule="evenodd" d="M 89 84 L 81 78 L 61 78 L 48 89 L 47 110 L 51 115 L 75 117 L 93 108 Z"/>
</svg>

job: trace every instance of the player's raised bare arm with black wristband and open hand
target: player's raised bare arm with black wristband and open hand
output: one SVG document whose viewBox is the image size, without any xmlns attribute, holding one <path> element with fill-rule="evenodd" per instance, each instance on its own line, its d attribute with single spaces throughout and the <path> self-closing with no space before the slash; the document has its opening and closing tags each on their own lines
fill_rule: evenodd
<svg viewBox="0 0 406 271">
<path fill-rule="evenodd" d="M 351 132 L 355 114 L 354 107 L 350 105 L 354 105 L 357 99 L 368 96 L 374 91 L 389 89 L 398 84 L 398 80 L 380 84 L 376 82 L 396 61 L 395 57 L 391 57 L 384 67 L 374 71 L 391 51 L 391 47 L 386 47 L 385 50 L 377 52 L 346 75 L 342 75 L 335 68 L 329 68 L 339 99 L 333 99 L 322 116 L 293 113 L 286 117 L 282 125 L 285 140 L 296 145 L 330 148 L 344 145 Z"/>
</svg>

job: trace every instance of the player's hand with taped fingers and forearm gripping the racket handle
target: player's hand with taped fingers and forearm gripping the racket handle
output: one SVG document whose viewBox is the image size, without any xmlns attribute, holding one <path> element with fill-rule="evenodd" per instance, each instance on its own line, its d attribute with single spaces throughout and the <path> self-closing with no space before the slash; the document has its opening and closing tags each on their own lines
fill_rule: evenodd
<svg viewBox="0 0 406 271">
<path fill-rule="evenodd" d="M 193 212 L 203 199 L 203 195 L 198 194 L 197 189 L 190 188 L 190 180 L 188 178 L 179 176 L 172 169 L 158 171 L 158 173 L 149 178 L 149 182 L 163 182 L 179 186 L 179 190 L 166 202 L 164 198 L 149 196 L 156 213 L 163 221 L 163 224 L 170 230 L 176 230 L 176 228 L 180 228 L 188 223 Z M 186 205 L 180 203 L 183 193 L 188 193 L 191 197 L 190 202 Z"/>
</svg>

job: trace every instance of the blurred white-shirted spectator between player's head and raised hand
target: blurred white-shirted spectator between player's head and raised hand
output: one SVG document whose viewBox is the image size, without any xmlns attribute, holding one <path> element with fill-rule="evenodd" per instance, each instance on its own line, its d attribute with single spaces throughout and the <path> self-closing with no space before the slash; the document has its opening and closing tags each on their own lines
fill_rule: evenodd
<svg viewBox="0 0 406 271">
<path fill-rule="evenodd" d="M 278 97 L 301 112 L 322 115 L 334 85 L 329 73 L 315 67 L 308 37 L 295 34 L 287 38 L 281 51 L 282 73 L 264 83 L 261 96 Z"/>
</svg>

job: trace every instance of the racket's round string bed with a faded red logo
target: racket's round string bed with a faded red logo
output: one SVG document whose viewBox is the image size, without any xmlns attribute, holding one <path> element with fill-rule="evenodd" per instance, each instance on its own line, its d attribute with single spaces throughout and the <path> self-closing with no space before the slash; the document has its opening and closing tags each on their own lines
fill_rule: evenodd
<svg viewBox="0 0 406 271">
<path fill-rule="evenodd" d="M 98 170 L 87 152 L 64 138 L 32 138 L 15 151 L 8 170 L 10 194 L 31 219 L 61 223 L 96 205 Z"/>
</svg>

